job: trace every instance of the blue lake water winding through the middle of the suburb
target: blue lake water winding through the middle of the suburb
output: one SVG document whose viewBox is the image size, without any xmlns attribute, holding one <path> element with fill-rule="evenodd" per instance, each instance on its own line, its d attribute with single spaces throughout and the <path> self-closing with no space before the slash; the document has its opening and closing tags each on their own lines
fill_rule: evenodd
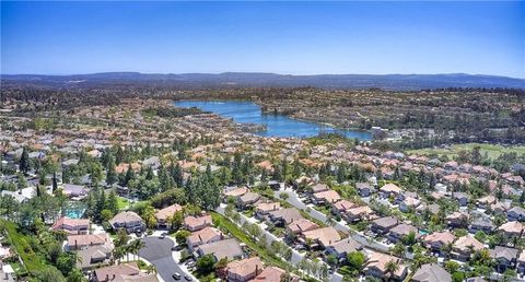
<svg viewBox="0 0 525 282">
<path fill-rule="evenodd" d="M 233 118 L 236 122 L 266 125 L 266 131 L 256 134 L 266 137 L 314 137 L 322 132 L 337 132 L 348 138 L 371 140 L 368 131 L 341 130 L 315 122 L 300 121 L 284 115 L 262 114 L 260 107 L 252 102 L 213 102 L 213 101 L 177 101 L 178 107 L 197 107 L 223 117 Z"/>
</svg>

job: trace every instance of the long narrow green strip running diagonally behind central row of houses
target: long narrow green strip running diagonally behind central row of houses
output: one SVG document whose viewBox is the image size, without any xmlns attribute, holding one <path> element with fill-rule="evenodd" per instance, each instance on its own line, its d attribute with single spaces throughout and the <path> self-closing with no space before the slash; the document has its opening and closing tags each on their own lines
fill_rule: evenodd
<svg viewBox="0 0 525 282">
<path fill-rule="evenodd" d="M 213 219 L 213 222 L 217 224 L 218 227 L 223 227 L 232 234 L 235 238 L 241 240 L 242 243 L 246 244 L 250 249 L 253 249 L 257 255 L 265 261 L 269 262 L 270 265 L 277 266 L 282 269 L 287 269 L 287 263 L 275 256 L 271 256 L 267 249 L 264 249 L 259 247 L 255 242 L 253 242 L 246 233 L 244 233 L 242 230 L 235 225 L 235 223 L 231 222 L 226 218 L 224 218 L 222 214 L 219 214 L 217 212 L 211 212 L 211 218 Z"/>
</svg>

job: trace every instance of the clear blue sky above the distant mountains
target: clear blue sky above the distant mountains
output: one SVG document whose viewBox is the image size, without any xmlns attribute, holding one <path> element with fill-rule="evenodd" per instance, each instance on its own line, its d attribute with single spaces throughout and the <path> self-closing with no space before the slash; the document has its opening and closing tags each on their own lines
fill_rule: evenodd
<svg viewBox="0 0 525 282">
<path fill-rule="evenodd" d="M 525 78 L 525 2 L 1 2 L 1 72 Z"/>
</svg>

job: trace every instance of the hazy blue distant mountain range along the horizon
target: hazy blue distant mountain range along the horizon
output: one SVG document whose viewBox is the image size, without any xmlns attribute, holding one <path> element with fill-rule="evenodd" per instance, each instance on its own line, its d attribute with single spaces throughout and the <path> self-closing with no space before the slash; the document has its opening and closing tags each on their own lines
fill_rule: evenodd
<svg viewBox="0 0 525 282">
<path fill-rule="evenodd" d="M 314 86 L 322 89 L 420 90 L 439 87 L 525 89 L 525 79 L 481 74 L 316 74 L 289 75 L 258 72 L 224 73 L 139 73 L 104 72 L 72 75 L 3 74 L 3 83 L 23 83 L 54 87 L 82 87 L 107 84 L 151 84 L 189 87 L 226 86 Z"/>
</svg>

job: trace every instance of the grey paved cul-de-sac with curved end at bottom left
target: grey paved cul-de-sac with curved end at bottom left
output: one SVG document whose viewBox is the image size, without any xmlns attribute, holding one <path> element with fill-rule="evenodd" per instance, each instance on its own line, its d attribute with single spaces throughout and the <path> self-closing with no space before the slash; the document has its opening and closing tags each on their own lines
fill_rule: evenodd
<svg viewBox="0 0 525 282">
<path fill-rule="evenodd" d="M 167 237 L 164 239 L 160 237 L 144 237 L 142 240 L 145 247 L 140 249 L 139 256 L 155 266 L 158 273 L 164 281 L 174 281 L 172 274 L 175 272 L 183 277 L 186 274 L 173 260 L 172 247 L 175 246 L 175 243 L 172 239 Z"/>
</svg>

